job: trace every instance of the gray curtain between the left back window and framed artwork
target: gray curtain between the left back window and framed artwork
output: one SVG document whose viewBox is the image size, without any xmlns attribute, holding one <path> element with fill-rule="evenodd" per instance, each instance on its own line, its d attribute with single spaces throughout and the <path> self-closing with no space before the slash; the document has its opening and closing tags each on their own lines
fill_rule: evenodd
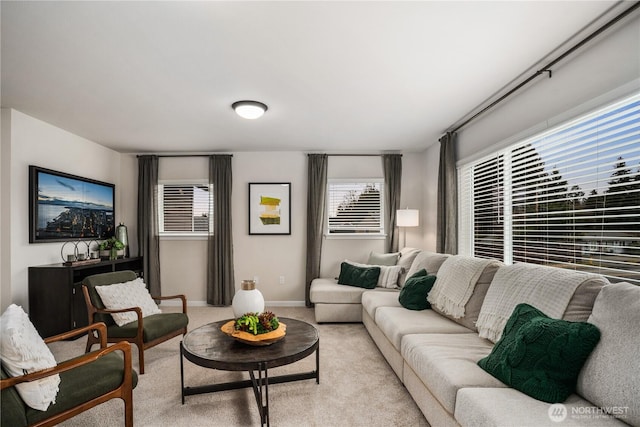
<svg viewBox="0 0 640 427">
<path fill-rule="evenodd" d="M 207 304 L 231 305 L 235 293 L 231 227 L 231 155 L 209 156 L 213 184 L 213 233 L 209 233 Z"/>
</svg>

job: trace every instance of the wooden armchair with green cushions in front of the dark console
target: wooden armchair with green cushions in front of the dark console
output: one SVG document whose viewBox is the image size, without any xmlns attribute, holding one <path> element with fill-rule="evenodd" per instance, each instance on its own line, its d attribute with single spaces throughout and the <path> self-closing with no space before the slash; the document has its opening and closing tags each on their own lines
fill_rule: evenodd
<svg viewBox="0 0 640 427">
<path fill-rule="evenodd" d="M 187 299 L 184 295 L 153 296 L 155 300 L 180 299 L 182 300 L 182 313 L 159 313 L 142 317 L 140 307 L 129 307 L 118 310 L 109 310 L 105 307 L 96 291 L 96 286 L 112 285 L 115 283 L 129 282 L 137 278 L 133 271 L 116 271 L 111 273 L 95 274 L 82 281 L 82 292 L 87 304 L 89 323 L 103 322 L 107 325 L 107 342 L 128 341 L 138 347 L 138 361 L 140 374 L 144 374 L 144 351 L 180 334 L 187 333 Z M 135 311 L 137 321 L 118 326 L 111 317 L 111 313 Z M 98 342 L 94 334 L 87 338 L 86 351 Z"/>
</svg>

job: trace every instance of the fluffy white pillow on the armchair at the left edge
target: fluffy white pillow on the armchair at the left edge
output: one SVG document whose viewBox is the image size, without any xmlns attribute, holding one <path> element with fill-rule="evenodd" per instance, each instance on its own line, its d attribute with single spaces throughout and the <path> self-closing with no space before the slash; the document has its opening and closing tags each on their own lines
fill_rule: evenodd
<svg viewBox="0 0 640 427">
<path fill-rule="evenodd" d="M 0 318 L 0 356 L 5 372 L 12 376 L 56 366 L 56 360 L 22 307 L 11 304 Z M 30 407 L 46 411 L 56 402 L 60 375 L 16 385 L 20 397 Z"/>
</svg>

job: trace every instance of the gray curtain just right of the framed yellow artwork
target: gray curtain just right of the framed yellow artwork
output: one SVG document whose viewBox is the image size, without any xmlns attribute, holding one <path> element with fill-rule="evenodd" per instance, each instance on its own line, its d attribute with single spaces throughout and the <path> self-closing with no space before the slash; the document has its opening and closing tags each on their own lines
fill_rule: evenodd
<svg viewBox="0 0 640 427">
<path fill-rule="evenodd" d="M 307 269 L 305 303 L 311 307 L 311 281 L 320 277 L 322 233 L 327 200 L 327 155 L 309 154 L 307 177 Z"/>
</svg>

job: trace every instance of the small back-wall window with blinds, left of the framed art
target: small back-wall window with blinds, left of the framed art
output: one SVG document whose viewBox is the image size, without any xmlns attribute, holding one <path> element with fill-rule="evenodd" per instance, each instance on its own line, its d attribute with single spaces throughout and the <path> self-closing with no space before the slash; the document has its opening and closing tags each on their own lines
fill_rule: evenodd
<svg viewBox="0 0 640 427">
<path fill-rule="evenodd" d="M 204 183 L 158 185 L 161 236 L 206 236 L 213 230 L 213 190 Z"/>
</svg>

